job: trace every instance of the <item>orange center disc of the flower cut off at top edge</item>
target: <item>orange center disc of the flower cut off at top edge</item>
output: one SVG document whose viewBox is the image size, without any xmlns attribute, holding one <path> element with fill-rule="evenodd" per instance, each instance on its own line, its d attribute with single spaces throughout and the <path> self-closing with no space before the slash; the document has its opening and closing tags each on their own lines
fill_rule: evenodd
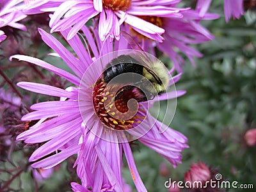
<svg viewBox="0 0 256 192">
<path fill-rule="evenodd" d="M 131 0 L 102 0 L 102 3 L 106 9 L 126 11 L 131 5 Z"/>
</svg>

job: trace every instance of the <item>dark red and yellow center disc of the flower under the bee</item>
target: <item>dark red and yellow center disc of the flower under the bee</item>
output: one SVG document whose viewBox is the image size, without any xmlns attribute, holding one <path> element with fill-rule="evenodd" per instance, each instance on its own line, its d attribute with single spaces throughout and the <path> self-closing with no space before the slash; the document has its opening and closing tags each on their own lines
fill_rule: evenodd
<svg viewBox="0 0 256 192">
<path fill-rule="evenodd" d="M 140 124 L 138 102 L 136 98 L 141 94 L 136 88 L 120 92 L 120 86 L 108 85 L 100 79 L 93 88 L 93 106 L 99 119 L 104 125 L 116 130 L 132 129 Z M 118 96 L 115 96 L 118 95 Z"/>
</svg>

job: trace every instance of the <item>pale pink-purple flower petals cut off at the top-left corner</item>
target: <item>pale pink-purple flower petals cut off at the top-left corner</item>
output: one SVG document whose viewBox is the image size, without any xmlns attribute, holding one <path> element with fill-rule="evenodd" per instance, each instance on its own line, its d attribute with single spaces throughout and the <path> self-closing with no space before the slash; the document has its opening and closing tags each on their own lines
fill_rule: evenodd
<svg viewBox="0 0 256 192">
<path fill-rule="evenodd" d="M 26 27 L 23 24 L 18 23 L 19 20 L 27 17 L 22 13 L 24 4 L 23 0 L 12 0 L 12 1 L 0 1 L 0 43 L 6 38 L 4 34 L 5 29 L 3 27 L 9 26 L 12 28 L 26 31 Z"/>
</svg>

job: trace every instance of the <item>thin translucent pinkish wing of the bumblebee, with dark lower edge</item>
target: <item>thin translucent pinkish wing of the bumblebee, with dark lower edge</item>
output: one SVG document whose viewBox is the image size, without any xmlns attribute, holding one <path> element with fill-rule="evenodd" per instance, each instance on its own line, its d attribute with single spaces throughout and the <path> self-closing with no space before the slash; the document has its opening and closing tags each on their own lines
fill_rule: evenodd
<svg viewBox="0 0 256 192">
<path fill-rule="evenodd" d="M 125 31 L 121 31 L 121 33 L 124 36 L 125 40 L 127 40 L 128 44 L 132 47 L 132 49 L 141 51 L 140 59 L 143 61 L 143 63 L 145 63 L 145 65 L 150 67 L 149 64 L 152 63 L 152 61 L 150 60 L 148 55 L 145 54 L 145 51 L 143 51 L 143 49 L 140 47 L 140 45 L 134 40 L 134 38 L 132 38 L 131 35 L 129 35 Z M 145 67 L 147 72 L 150 73 L 154 77 L 154 79 L 156 79 L 157 83 L 161 83 L 161 79 L 157 76 L 157 74 L 154 71 L 150 70 L 150 68 L 148 68 L 148 67 Z"/>
</svg>

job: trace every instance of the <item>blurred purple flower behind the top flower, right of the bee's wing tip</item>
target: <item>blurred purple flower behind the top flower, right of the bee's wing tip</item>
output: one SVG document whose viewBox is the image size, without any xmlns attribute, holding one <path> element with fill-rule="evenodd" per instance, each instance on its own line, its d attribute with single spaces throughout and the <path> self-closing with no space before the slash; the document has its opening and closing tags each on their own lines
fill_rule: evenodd
<svg viewBox="0 0 256 192">
<path fill-rule="evenodd" d="M 183 17 L 145 17 L 145 20 L 152 22 L 163 28 L 166 32 L 163 34 L 164 41 L 152 42 L 148 38 L 143 38 L 138 33 L 133 33 L 137 37 L 138 42 L 145 50 L 150 50 L 154 54 L 154 47 L 170 56 L 175 68 L 178 72 L 182 72 L 184 59 L 179 53 L 185 54 L 189 61 L 195 65 L 193 58 L 202 57 L 202 54 L 191 47 L 191 44 L 201 44 L 214 39 L 214 36 L 200 24 L 200 20 L 218 19 L 219 15 L 214 13 L 207 13 L 211 4 L 211 0 L 199 0 L 196 4 L 195 10 L 182 11 Z M 127 29 L 129 31 L 129 29 Z"/>
</svg>

